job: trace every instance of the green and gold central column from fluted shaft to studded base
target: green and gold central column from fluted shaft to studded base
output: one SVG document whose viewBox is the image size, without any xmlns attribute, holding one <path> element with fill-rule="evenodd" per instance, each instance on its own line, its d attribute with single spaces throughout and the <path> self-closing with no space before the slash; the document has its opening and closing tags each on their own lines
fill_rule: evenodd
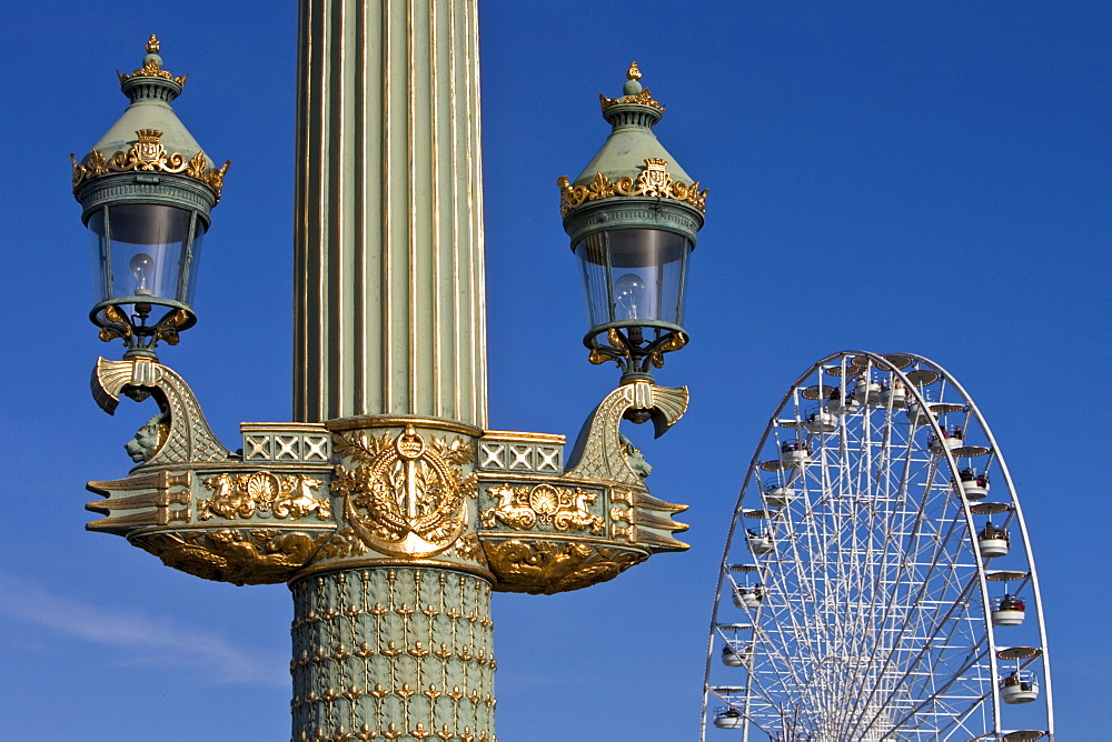
<svg viewBox="0 0 1112 742">
<path fill-rule="evenodd" d="M 290 581 L 295 739 L 494 738 L 477 12 L 301 3 L 294 414 L 353 533 Z"/>
</svg>

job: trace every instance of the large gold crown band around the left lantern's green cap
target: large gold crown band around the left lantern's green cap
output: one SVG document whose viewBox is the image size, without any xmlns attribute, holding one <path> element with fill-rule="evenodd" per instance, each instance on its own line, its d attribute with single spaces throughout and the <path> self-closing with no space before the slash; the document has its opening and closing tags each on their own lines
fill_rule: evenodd
<svg viewBox="0 0 1112 742">
<path fill-rule="evenodd" d="M 168 152 L 162 144 L 162 132 L 157 129 L 139 129 L 136 141 L 127 152 L 117 151 L 106 158 L 102 152 L 93 149 L 86 156 L 83 162 L 78 162 L 71 153 L 73 164 L 73 190 L 82 183 L 100 176 L 115 172 L 148 171 L 168 174 L 185 174 L 193 180 L 206 183 L 216 191 L 217 200 L 224 190 L 224 178 L 231 167 L 231 160 L 219 168 L 208 167 L 203 152 L 197 152 L 189 160 L 181 152 Z M 171 343 L 172 344 L 172 343 Z"/>
</svg>

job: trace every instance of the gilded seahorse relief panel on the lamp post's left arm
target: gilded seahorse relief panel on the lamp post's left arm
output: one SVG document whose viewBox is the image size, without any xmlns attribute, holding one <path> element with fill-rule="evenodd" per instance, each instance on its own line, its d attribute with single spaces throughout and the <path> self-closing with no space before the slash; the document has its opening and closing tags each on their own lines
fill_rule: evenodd
<svg viewBox="0 0 1112 742">
<path fill-rule="evenodd" d="M 328 498 L 314 498 L 321 481 L 305 474 L 274 474 L 257 471 L 251 474 L 217 474 L 205 480 L 214 491 L 210 500 L 197 503 L 197 519 L 207 521 L 217 515 L 228 520 L 237 518 L 274 517 L 297 520 L 316 513 L 317 520 L 332 517 Z"/>
</svg>

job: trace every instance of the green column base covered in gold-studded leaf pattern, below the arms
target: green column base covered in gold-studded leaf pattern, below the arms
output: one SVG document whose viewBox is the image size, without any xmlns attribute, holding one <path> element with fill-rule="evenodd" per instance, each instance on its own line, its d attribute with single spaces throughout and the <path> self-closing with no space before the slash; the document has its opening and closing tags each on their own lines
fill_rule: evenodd
<svg viewBox="0 0 1112 742">
<path fill-rule="evenodd" d="M 436 568 L 295 581 L 294 742 L 494 742 L 490 585 Z"/>
</svg>

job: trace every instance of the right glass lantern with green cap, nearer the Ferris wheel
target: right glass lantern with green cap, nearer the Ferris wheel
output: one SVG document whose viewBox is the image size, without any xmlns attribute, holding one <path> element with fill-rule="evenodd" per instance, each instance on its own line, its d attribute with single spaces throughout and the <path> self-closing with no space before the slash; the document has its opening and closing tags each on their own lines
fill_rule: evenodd
<svg viewBox="0 0 1112 742">
<path fill-rule="evenodd" d="M 623 382 L 652 380 L 663 354 L 687 344 L 687 259 L 703 227 L 706 190 L 676 164 L 653 127 L 664 106 L 629 66 L 623 97 L 602 100 L 609 138 L 572 182 L 557 181 L 564 230 L 579 259 L 590 362 L 617 362 Z"/>
</svg>

